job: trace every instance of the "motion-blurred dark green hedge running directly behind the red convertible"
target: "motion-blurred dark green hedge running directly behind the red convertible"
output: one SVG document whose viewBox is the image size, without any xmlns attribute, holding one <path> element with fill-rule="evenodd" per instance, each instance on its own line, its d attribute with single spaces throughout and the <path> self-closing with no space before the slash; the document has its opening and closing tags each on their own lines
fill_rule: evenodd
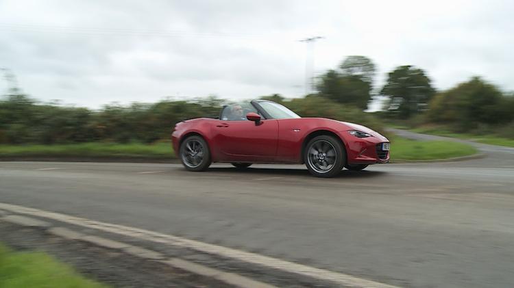
<svg viewBox="0 0 514 288">
<path fill-rule="evenodd" d="M 282 102 L 303 117 L 357 122 L 383 132 L 381 122 L 373 115 L 322 96 L 289 101 L 280 95 L 265 98 Z M 153 143 L 169 139 L 177 122 L 218 116 L 223 103 L 211 96 L 192 101 L 112 104 L 93 111 L 38 103 L 23 94 L 10 95 L 0 100 L 0 144 Z"/>
</svg>

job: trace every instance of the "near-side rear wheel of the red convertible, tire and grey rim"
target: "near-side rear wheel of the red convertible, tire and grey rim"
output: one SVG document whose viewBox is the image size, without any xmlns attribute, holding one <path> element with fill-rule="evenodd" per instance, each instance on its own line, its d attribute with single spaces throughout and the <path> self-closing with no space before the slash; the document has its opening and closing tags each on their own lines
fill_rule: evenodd
<svg viewBox="0 0 514 288">
<path fill-rule="evenodd" d="M 210 166 L 210 150 L 199 135 L 192 135 L 180 144 L 180 161 L 189 171 L 205 171 Z"/>
</svg>

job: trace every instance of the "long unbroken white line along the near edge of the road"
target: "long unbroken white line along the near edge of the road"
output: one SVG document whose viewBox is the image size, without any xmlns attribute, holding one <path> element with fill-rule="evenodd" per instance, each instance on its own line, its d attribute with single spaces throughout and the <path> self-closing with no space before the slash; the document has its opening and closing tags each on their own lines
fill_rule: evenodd
<svg viewBox="0 0 514 288">
<path fill-rule="evenodd" d="M 105 222 L 99 222 L 95 220 L 88 220 L 86 218 L 79 218 L 71 215 L 62 213 L 55 213 L 44 211 L 40 209 L 28 208 L 19 205 L 12 205 L 0 202 L 0 209 L 8 210 L 14 213 L 21 213 L 26 215 L 34 215 L 36 217 L 49 218 L 52 220 L 58 220 L 60 222 L 66 222 L 69 224 L 83 226 L 87 228 L 94 228 L 109 233 L 115 233 L 119 235 L 125 235 L 129 237 L 135 237 L 146 241 L 153 241 L 160 244 L 168 244 L 173 246 L 180 246 L 184 248 L 191 248 L 193 250 L 206 252 L 209 254 L 217 254 L 222 257 L 228 257 L 244 261 L 247 263 L 253 263 L 256 265 L 262 265 L 270 267 L 276 270 L 282 270 L 284 272 L 300 274 L 311 278 L 317 278 L 320 280 L 327 280 L 339 285 L 348 287 L 363 287 L 363 288 L 395 288 L 395 286 L 387 285 L 384 283 L 378 283 L 372 280 L 366 280 L 355 276 L 333 272 L 330 270 L 323 270 L 307 265 L 293 263 L 273 257 L 267 257 L 260 254 L 251 252 L 245 252 L 242 250 L 236 250 L 232 248 L 226 248 L 214 244 L 208 244 L 201 241 L 186 239 L 183 237 L 167 235 L 154 231 L 148 231 L 145 229 L 134 228 L 130 226 L 123 226 L 118 224 L 110 224 Z"/>
</svg>

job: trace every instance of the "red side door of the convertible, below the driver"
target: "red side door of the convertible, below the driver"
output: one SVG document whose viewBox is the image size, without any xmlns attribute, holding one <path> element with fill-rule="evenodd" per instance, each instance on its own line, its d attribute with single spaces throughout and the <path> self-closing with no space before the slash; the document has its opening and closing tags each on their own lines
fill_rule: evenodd
<svg viewBox="0 0 514 288">
<path fill-rule="evenodd" d="M 272 161 L 276 156 L 277 120 L 218 120 L 213 129 L 221 161 Z"/>
</svg>

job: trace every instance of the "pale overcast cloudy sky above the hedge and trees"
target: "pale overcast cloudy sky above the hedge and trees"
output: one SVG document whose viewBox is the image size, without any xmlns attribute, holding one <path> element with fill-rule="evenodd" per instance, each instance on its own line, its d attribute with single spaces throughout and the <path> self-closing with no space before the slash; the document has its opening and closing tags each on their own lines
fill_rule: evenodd
<svg viewBox="0 0 514 288">
<path fill-rule="evenodd" d="M 482 75 L 511 91 L 513 15 L 513 1 L 497 0 L 0 0 L 0 67 L 36 99 L 88 107 L 298 97 L 307 52 L 298 40 L 323 36 L 317 73 L 365 55 L 377 87 L 412 64 L 440 90 Z"/>
</svg>

